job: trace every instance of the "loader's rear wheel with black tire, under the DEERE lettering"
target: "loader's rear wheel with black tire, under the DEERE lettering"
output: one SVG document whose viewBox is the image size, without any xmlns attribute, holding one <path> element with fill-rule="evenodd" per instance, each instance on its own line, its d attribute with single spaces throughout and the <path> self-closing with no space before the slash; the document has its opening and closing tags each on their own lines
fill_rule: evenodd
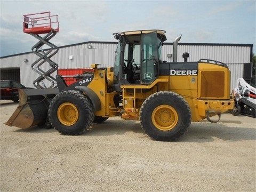
<svg viewBox="0 0 256 192">
<path fill-rule="evenodd" d="M 188 103 L 177 93 L 160 91 L 142 103 L 140 124 L 154 140 L 175 141 L 187 132 L 190 123 Z"/>
</svg>

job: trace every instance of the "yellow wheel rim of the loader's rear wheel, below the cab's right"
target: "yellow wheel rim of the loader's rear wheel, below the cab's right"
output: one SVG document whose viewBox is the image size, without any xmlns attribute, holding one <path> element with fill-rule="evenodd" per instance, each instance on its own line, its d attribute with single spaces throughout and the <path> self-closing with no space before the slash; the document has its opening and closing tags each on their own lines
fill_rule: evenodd
<svg viewBox="0 0 256 192">
<path fill-rule="evenodd" d="M 177 111 L 169 105 L 161 105 L 154 109 L 151 119 L 154 126 L 162 131 L 173 129 L 178 123 Z"/>
</svg>

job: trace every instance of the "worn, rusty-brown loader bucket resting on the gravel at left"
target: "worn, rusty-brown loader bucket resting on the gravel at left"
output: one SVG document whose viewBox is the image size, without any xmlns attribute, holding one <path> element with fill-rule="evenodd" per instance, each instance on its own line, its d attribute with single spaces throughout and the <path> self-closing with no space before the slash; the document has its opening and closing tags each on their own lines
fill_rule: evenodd
<svg viewBox="0 0 256 192">
<path fill-rule="evenodd" d="M 59 93 L 54 89 L 19 89 L 20 102 L 9 120 L 4 123 L 21 129 L 43 125 L 52 98 Z"/>
</svg>

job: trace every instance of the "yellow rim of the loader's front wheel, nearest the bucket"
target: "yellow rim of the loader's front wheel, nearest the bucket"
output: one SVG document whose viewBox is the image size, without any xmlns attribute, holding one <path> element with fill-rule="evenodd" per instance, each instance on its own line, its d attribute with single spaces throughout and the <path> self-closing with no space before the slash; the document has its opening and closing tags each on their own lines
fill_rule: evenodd
<svg viewBox="0 0 256 192">
<path fill-rule="evenodd" d="M 71 126 L 77 122 L 78 110 L 72 103 L 65 102 L 59 106 L 57 115 L 63 125 Z"/>
</svg>

